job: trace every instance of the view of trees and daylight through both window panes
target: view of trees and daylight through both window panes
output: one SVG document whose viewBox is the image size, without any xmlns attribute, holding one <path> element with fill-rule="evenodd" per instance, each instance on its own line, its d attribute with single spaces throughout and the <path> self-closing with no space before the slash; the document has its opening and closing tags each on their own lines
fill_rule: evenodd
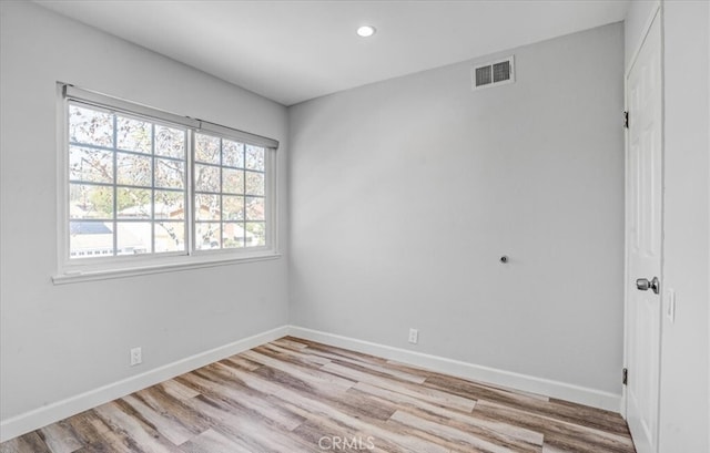
<svg viewBox="0 0 710 453">
<path fill-rule="evenodd" d="M 68 119 L 70 258 L 186 254 L 190 231 L 197 250 L 265 245 L 265 148 L 73 101 Z"/>
</svg>

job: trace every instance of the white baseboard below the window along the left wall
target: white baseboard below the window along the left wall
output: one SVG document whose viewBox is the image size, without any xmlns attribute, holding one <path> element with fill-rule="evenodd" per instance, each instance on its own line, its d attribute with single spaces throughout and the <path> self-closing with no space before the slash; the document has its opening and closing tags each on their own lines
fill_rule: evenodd
<svg viewBox="0 0 710 453">
<path fill-rule="evenodd" d="M 287 333 L 288 327 L 282 326 L 3 420 L 0 422 L 0 442 L 285 337 Z"/>
</svg>

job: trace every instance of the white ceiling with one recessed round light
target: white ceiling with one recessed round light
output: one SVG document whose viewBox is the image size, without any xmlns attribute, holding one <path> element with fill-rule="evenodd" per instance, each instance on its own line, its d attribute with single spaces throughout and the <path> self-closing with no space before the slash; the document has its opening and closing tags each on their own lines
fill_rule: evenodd
<svg viewBox="0 0 710 453">
<path fill-rule="evenodd" d="M 37 0 L 285 105 L 623 20 L 627 0 Z M 368 39 L 355 34 L 373 24 Z"/>
</svg>

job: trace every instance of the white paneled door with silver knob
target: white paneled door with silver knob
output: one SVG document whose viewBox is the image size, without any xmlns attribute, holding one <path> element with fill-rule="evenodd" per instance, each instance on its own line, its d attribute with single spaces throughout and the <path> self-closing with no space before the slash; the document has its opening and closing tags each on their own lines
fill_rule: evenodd
<svg viewBox="0 0 710 453">
<path fill-rule="evenodd" d="M 661 31 L 657 12 L 627 75 L 627 421 L 658 452 L 661 339 Z M 656 278 L 656 280 L 653 279 Z"/>
</svg>

